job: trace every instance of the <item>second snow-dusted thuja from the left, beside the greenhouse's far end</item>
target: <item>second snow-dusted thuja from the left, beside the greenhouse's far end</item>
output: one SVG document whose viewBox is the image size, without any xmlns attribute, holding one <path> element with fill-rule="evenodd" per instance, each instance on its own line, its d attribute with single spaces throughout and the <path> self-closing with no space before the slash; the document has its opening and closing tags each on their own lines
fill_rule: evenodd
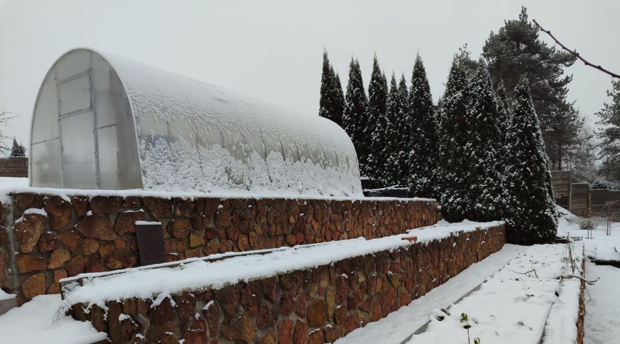
<svg viewBox="0 0 620 344">
<path fill-rule="evenodd" d="M 368 98 L 361 79 L 360 61 L 351 59 L 349 64 L 349 79 L 347 84 L 345 111 L 342 115 L 342 126 L 353 141 L 360 172 L 363 174 L 368 164 L 370 154 L 370 135 L 368 135 Z"/>
</svg>

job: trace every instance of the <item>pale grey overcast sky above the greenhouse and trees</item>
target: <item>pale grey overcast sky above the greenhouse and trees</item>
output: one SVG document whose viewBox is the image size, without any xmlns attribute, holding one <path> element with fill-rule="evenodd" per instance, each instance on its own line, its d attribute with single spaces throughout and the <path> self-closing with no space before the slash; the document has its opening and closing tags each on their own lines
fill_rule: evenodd
<svg viewBox="0 0 620 344">
<path fill-rule="evenodd" d="M 479 56 L 491 30 L 516 19 L 551 29 L 588 60 L 620 73 L 620 1 L 25 1 L 0 0 L 0 110 L 4 135 L 29 142 L 38 87 L 64 52 L 86 46 L 228 87 L 316 116 L 321 55 L 346 86 L 358 56 L 366 86 L 373 53 L 410 79 L 422 55 L 436 100 L 459 46 Z M 549 38 L 541 35 L 546 42 Z M 593 123 L 611 77 L 576 63 L 571 100 Z"/>
</svg>

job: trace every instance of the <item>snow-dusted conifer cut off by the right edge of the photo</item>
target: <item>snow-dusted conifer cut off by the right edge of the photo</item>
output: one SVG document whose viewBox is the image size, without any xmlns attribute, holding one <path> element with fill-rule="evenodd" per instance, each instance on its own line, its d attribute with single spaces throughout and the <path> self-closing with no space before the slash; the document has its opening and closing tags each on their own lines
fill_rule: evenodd
<svg viewBox="0 0 620 344">
<path fill-rule="evenodd" d="M 603 159 L 598 171 L 609 180 L 617 181 L 620 180 L 620 81 L 611 82 L 607 95 L 611 103 L 605 103 L 596 113 L 601 118 L 596 124 L 603 127 L 596 135 L 601 140 L 599 157 Z"/>
</svg>

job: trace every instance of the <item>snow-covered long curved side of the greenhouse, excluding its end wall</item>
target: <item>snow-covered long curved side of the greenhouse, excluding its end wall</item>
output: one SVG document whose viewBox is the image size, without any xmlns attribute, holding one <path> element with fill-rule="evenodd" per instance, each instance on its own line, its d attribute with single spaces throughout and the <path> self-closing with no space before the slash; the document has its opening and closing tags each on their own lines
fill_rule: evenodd
<svg viewBox="0 0 620 344">
<path fill-rule="evenodd" d="M 334 122 L 102 56 L 136 118 L 144 188 L 361 196 L 355 148 Z"/>
</svg>

